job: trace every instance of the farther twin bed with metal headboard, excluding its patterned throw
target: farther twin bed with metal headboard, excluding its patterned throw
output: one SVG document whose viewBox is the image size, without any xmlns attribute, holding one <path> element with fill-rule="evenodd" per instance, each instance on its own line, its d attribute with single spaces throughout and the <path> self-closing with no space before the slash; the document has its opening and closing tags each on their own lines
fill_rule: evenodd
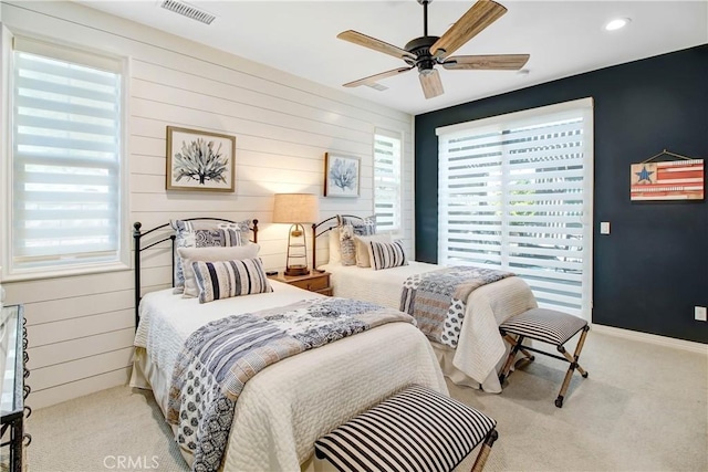
<svg viewBox="0 0 708 472">
<path fill-rule="evenodd" d="M 340 237 L 336 231 L 343 223 L 364 222 L 367 219 L 345 214 L 332 217 L 313 224 L 315 248 L 313 266 L 331 273 L 333 295 L 366 300 L 398 310 L 402 304 L 402 287 L 408 277 L 440 271 L 442 266 L 406 261 L 405 265 L 374 270 L 357 264 L 344 265 L 345 258 L 336 254 Z M 375 224 L 375 221 L 373 222 Z M 316 264 L 316 244 L 329 239 L 329 262 Z M 361 238 L 366 240 L 366 237 Z M 360 251 L 361 245 L 355 244 Z M 361 265 L 361 264 L 360 264 Z M 373 265 L 373 264 L 372 264 Z M 465 323 L 455 347 L 430 340 L 446 377 L 456 385 L 482 388 L 487 392 L 501 391 L 498 370 L 506 357 L 507 346 L 498 326 L 511 316 L 538 306 L 529 285 L 518 276 L 509 276 L 482 285 L 466 300 Z"/>
</svg>

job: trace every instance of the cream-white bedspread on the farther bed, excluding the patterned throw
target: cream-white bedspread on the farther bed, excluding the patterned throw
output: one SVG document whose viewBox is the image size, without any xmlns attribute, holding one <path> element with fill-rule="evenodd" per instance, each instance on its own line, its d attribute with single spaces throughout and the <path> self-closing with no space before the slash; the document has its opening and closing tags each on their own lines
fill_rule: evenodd
<svg viewBox="0 0 708 472">
<path fill-rule="evenodd" d="M 440 265 L 410 262 L 400 268 L 374 271 L 355 265 L 326 264 L 335 296 L 366 300 L 389 307 L 399 307 L 403 282 L 416 273 L 430 272 Z M 469 384 L 454 371 L 459 370 L 485 391 L 501 391 L 496 367 L 503 359 L 504 342 L 498 326 L 510 316 L 535 308 L 537 302 L 529 285 L 520 277 L 507 277 L 473 291 L 467 300 L 462 332 L 452 357 L 452 368 L 445 374 L 455 382 Z M 450 350 L 437 345 L 439 352 Z"/>
</svg>

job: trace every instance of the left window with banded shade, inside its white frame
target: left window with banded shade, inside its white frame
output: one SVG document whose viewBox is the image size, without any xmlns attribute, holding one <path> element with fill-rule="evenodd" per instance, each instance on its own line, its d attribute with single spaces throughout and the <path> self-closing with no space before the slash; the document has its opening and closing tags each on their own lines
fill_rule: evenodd
<svg viewBox="0 0 708 472">
<path fill-rule="evenodd" d="M 14 39 L 10 274 L 125 263 L 123 62 Z"/>
</svg>

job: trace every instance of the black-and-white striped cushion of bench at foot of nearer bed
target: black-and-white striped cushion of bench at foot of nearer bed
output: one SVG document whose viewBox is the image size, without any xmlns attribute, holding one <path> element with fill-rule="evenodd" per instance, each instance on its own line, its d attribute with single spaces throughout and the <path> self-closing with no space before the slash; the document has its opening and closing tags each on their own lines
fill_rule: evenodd
<svg viewBox="0 0 708 472">
<path fill-rule="evenodd" d="M 497 422 L 426 387 L 412 386 L 315 444 L 340 471 L 450 471 Z"/>
</svg>

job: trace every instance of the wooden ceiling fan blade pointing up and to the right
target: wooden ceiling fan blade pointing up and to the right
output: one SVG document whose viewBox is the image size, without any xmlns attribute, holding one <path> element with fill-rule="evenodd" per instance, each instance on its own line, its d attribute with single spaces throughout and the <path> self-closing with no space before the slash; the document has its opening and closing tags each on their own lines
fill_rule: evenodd
<svg viewBox="0 0 708 472">
<path fill-rule="evenodd" d="M 478 0 L 433 44 L 430 52 L 438 59 L 447 57 L 506 12 L 504 7 L 492 0 Z"/>
</svg>

